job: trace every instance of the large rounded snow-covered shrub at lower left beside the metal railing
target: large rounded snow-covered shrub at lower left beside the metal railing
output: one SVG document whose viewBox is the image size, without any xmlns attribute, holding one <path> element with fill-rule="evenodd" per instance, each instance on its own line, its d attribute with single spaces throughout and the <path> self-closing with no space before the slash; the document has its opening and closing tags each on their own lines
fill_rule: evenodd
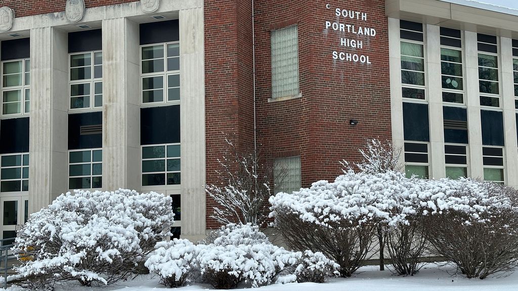
<svg viewBox="0 0 518 291">
<path fill-rule="evenodd" d="M 34 259 L 20 260 L 16 271 L 32 288 L 68 280 L 116 283 L 170 235 L 173 216 L 171 198 L 154 192 L 68 192 L 18 232 L 13 251 Z"/>
</svg>

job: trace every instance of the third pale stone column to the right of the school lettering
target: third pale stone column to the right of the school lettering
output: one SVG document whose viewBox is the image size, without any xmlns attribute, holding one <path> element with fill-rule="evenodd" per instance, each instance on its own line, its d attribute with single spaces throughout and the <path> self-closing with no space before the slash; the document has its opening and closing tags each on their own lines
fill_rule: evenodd
<svg viewBox="0 0 518 291">
<path fill-rule="evenodd" d="M 477 33 L 465 31 L 465 64 L 466 77 L 464 88 L 466 89 L 466 106 L 468 112 L 468 166 L 469 176 L 472 178 L 484 178 L 484 166 L 482 164 L 482 129 L 480 127 L 480 97 L 479 97 L 479 67 L 477 52 Z"/>
</svg>

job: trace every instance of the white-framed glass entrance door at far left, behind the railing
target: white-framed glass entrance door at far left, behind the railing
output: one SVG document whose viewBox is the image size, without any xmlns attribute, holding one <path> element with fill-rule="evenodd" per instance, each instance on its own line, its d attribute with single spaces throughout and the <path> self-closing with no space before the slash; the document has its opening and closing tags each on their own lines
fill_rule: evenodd
<svg viewBox="0 0 518 291">
<path fill-rule="evenodd" d="M 16 238 L 16 231 L 27 219 L 28 199 L 26 196 L 0 198 L 0 239 Z M 11 244 L 13 241 L 6 241 Z"/>
</svg>

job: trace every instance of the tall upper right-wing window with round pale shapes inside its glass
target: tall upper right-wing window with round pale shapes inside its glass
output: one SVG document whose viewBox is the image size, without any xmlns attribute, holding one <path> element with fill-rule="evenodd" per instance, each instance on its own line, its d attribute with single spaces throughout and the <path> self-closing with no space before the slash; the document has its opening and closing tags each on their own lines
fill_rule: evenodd
<svg viewBox="0 0 518 291">
<path fill-rule="evenodd" d="M 441 27 L 440 35 L 442 101 L 464 103 L 461 31 Z"/>
</svg>

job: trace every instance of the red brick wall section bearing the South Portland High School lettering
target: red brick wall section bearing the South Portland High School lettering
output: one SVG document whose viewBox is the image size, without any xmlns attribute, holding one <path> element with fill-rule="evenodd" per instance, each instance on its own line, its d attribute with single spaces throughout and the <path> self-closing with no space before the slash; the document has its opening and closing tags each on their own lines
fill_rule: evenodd
<svg viewBox="0 0 518 291">
<path fill-rule="evenodd" d="M 331 8 L 327 9 L 326 4 Z M 367 21 L 335 16 L 335 8 L 367 13 Z M 376 36 L 326 30 L 325 21 L 375 28 Z M 268 103 L 271 97 L 270 30 L 298 25 L 301 98 Z M 359 158 L 365 138 L 391 138 L 389 43 L 383 0 L 255 1 L 258 137 L 279 156 L 298 151 L 307 187 L 341 173 L 339 161 Z M 363 40 L 357 54 L 371 64 L 333 60 L 340 36 Z M 358 120 L 356 126 L 350 119 Z M 292 153 L 293 154 L 293 153 Z"/>
</svg>

